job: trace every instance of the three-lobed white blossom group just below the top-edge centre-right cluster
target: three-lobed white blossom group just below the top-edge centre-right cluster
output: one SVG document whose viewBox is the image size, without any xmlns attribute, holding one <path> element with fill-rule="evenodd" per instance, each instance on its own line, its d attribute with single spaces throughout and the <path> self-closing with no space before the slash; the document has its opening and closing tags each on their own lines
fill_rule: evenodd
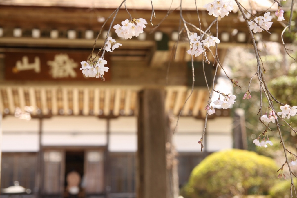
<svg viewBox="0 0 297 198">
<path fill-rule="evenodd" d="M 220 43 L 220 40 L 214 36 L 208 36 L 202 43 L 199 41 L 200 36 L 197 33 L 194 33 L 190 36 L 190 41 L 193 44 L 192 48 L 187 51 L 188 54 L 199 56 L 203 53 L 202 43 L 204 46 L 210 47 L 215 46 L 216 43 Z"/>
</svg>

